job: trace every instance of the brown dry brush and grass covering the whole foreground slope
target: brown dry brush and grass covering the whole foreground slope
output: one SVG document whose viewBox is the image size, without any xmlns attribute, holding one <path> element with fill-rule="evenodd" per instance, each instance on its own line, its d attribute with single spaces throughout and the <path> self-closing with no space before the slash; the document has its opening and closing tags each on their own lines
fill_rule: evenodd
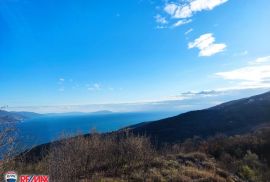
<svg viewBox="0 0 270 182">
<path fill-rule="evenodd" d="M 65 182 L 268 181 L 270 128 L 241 136 L 194 137 L 159 149 L 145 136 L 93 133 L 61 140 L 35 155 L 29 151 L 6 160 L 2 168 Z"/>
</svg>

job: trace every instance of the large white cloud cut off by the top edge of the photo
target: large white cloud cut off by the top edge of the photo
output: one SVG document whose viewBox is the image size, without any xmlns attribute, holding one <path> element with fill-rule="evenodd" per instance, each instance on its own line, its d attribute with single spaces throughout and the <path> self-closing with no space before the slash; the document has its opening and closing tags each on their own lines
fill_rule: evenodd
<svg viewBox="0 0 270 182">
<path fill-rule="evenodd" d="M 212 10 L 228 0 L 190 0 L 185 3 L 167 3 L 164 11 L 172 18 L 189 18 L 196 12 Z"/>
</svg>

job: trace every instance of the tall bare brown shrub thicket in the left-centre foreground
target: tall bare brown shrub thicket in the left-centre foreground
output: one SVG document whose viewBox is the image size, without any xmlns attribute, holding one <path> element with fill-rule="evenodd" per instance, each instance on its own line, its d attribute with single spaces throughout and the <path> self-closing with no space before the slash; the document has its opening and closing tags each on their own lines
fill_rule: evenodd
<svg viewBox="0 0 270 182">
<path fill-rule="evenodd" d="M 154 156 L 146 137 L 93 134 L 63 140 L 46 160 L 51 178 L 67 181 L 92 178 L 97 173 L 107 177 L 128 175 L 136 168 L 146 172 Z"/>
</svg>

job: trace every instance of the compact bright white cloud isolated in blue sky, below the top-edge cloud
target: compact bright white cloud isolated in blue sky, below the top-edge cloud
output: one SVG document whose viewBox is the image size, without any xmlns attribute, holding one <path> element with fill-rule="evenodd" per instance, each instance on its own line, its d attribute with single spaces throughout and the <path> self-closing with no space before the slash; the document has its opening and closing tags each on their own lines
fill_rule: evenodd
<svg viewBox="0 0 270 182">
<path fill-rule="evenodd" d="M 224 43 L 216 44 L 212 33 L 203 34 L 188 44 L 189 49 L 198 48 L 200 50 L 199 56 L 212 56 L 223 52 L 226 47 Z"/>
</svg>

